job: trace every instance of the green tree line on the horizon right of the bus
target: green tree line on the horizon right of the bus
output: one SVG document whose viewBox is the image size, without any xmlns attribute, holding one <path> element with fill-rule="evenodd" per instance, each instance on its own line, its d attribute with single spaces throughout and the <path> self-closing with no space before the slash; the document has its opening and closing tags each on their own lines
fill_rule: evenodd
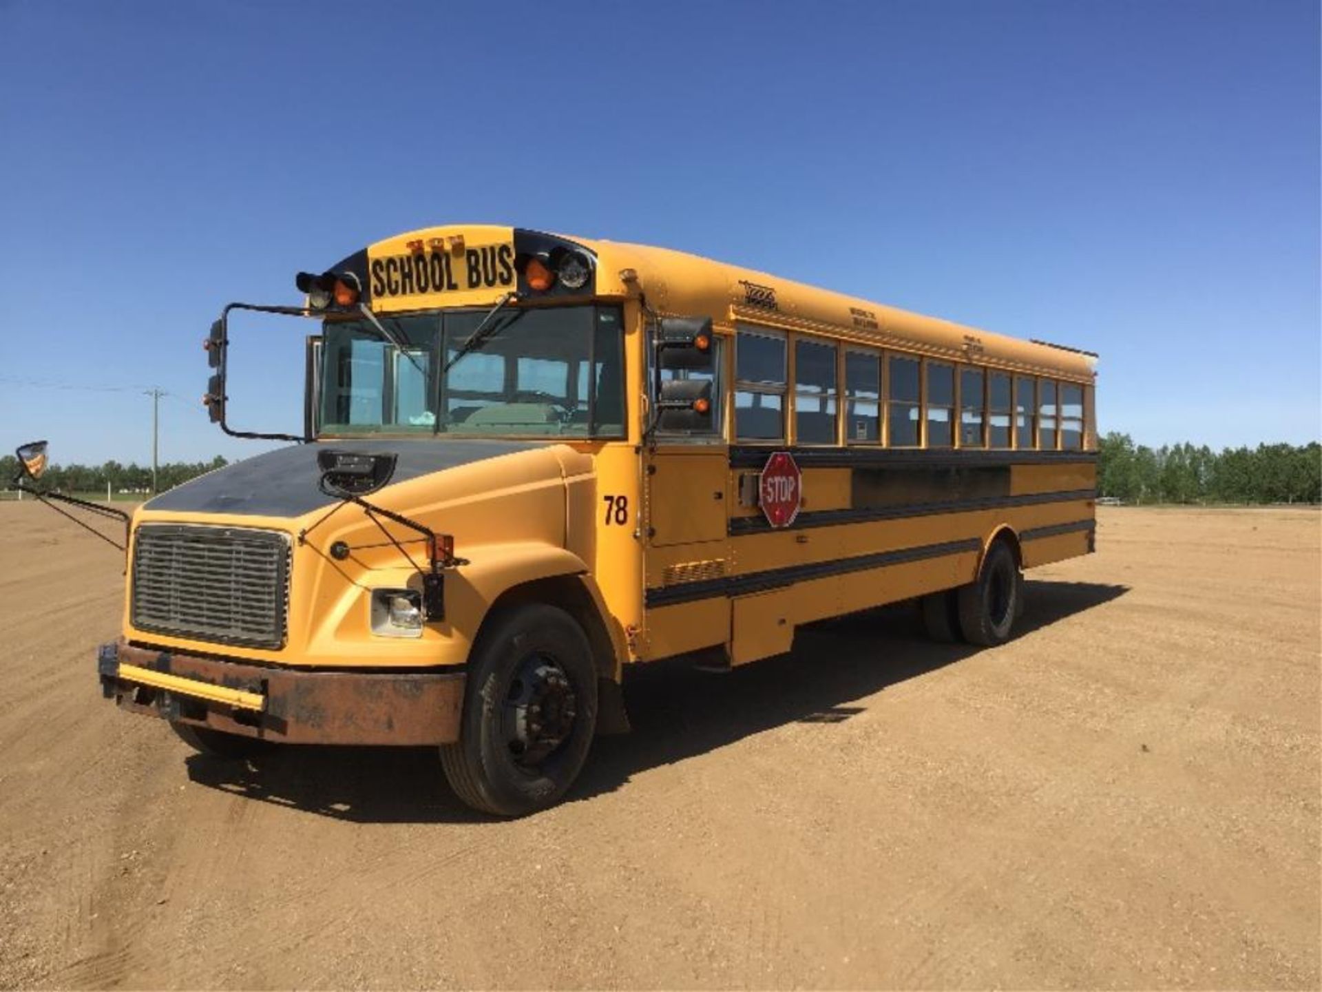
<svg viewBox="0 0 1322 992">
<path fill-rule="evenodd" d="M 1125 503 L 1319 503 L 1322 446 L 1150 448 L 1110 433 L 1097 443 L 1097 495 Z"/>
</svg>

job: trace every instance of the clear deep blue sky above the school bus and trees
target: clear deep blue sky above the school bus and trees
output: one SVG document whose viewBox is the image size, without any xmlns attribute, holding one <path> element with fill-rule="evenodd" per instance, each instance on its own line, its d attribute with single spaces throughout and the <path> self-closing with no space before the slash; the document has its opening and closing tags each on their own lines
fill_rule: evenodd
<svg viewBox="0 0 1322 992">
<path fill-rule="evenodd" d="M 0 448 L 149 459 L 160 385 L 164 460 L 255 454 L 197 403 L 221 306 L 463 221 L 1089 348 L 1141 442 L 1315 439 L 1318 34 L 1311 0 L 0 0 Z M 300 332 L 235 331 L 233 421 L 299 430 Z"/>
</svg>

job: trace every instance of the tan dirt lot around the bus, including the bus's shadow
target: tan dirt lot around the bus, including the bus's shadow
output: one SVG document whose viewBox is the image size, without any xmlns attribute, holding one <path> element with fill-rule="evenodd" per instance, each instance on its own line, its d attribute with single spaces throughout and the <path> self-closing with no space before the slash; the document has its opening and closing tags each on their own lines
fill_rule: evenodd
<svg viewBox="0 0 1322 992">
<path fill-rule="evenodd" d="M 514 823 L 430 751 L 190 755 L 99 697 L 120 561 L 0 505 L 0 985 L 1318 988 L 1322 517 L 1104 509 L 1025 634 L 850 618 Z"/>
</svg>

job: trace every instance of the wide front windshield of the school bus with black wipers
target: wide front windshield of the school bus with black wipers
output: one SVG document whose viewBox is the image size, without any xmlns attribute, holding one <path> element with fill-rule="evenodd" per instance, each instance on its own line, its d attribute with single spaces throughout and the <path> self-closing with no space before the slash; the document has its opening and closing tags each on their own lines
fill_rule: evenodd
<svg viewBox="0 0 1322 992">
<path fill-rule="evenodd" d="M 624 435 L 619 307 L 506 307 L 438 381 L 486 313 L 378 315 L 403 352 L 365 320 L 327 321 L 320 433 Z"/>
</svg>

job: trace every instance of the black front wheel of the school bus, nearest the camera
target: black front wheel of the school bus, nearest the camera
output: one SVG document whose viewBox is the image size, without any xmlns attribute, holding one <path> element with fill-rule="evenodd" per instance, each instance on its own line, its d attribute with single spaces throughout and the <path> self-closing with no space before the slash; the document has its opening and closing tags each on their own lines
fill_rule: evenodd
<svg viewBox="0 0 1322 992">
<path fill-rule="evenodd" d="M 578 778 L 596 726 L 596 667 L 583 628 L 554 606 L 489 620 L 468 671 L 457 743 L 442 745 L 451 788 L 496 816 L 555 804 Z"/>
</svg>

